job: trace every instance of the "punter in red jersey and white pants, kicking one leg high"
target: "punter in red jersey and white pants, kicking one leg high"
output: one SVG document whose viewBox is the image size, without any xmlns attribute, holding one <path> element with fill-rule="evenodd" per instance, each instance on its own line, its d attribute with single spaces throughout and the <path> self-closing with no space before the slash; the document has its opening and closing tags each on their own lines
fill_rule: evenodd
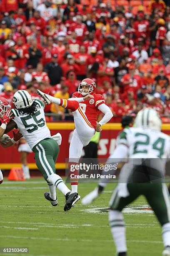
<svg viewBox="0 0 170 256">
<path fill-rule="evenodd" d="M 69 169 L 75 166 L 82 155 L 82 148 L 87 146 L 95 131 L 100 132 L 101 126 L 112 118 L 110 108 L 105 105 L 105 99 L 100 94 L 95 94 L 96 84 L 92 79 L 86 78 L 79 84 L 78 92 L 74 92 L 72 98 L 63 100 L 47 95 L 40 90 L 37 93 L 44 99 L 46 104 L 55 103 L 72 110 L 75 122 L 75 130 L 72 135 L 69 148 Z M 99 110 L 104 117 L 97 123 Z M 72 192 L 77 192 L 78 179 L 70 179 Z M 80 199 L 80 196 L 77 200 Z"/>
</svg>

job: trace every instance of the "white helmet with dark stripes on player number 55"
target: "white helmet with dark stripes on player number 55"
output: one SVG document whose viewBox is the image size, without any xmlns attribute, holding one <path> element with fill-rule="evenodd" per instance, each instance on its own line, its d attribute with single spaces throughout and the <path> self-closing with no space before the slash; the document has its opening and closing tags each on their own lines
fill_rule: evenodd
<svg viewBox="0 0 170 256">
<path fill-rule="evenodd" d="M 32 105 L 33 101 L 29 92 L 25 90 L 18 90 L 13 96 L 13 103 L 15 105 L 15 108 L 21 109 L 29 108 Z"/>
</svg>

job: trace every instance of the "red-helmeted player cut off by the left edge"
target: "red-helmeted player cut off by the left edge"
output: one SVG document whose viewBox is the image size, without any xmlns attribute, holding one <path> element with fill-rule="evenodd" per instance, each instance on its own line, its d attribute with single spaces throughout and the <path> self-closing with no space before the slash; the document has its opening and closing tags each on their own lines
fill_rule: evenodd
<svg viewBox="0 0 170 256">
<path fill-rule="evenodd" d="M 4 97 L 0 97 L 0 134 L 1 134 L 1 138 L 0 138 L 0 146 L 2 146 L 3 148 L 8 148 L 10 146 L 13 146 L 23 135 L 19 132 L 13 131 L 13 138 L 11 139 L 10 136 L 8 136 L 7 134 L 3 134 L 4 133 L 4 128 L 6 127 L 5 125 L 7 125 L 7 123 L 10 122 L 11 118 L 10 118 L 10 109 L 11 106 L 8 102 L 8 100 L 6 100 Z M 3 182 L 3 175 L 2 172 L 0 170 L 0 184 Z"/>
</svg>

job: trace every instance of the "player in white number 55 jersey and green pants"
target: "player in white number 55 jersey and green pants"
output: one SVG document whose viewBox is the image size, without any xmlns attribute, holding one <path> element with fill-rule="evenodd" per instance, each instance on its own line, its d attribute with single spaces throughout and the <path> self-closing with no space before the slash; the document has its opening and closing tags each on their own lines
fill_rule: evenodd
<svg viewBox="0 0 170 256">
<path fill-rule="evenodd" d="M 59 154 L 58 135 L 52 136 L 45 122 L 44 103 L 41 100 L 32 100 L 25 90 L 18 90 L 13 97 L 15 109 L 11 109 L 13 120 L 7 125 L 7 132 L 19 128 L 20 133 L 35 153 L 38 169 L 47 181 L 50 193 L 45 192 L 45 198 L 52 206 L 57 205 L 56 187 L 65 195 L 64 210 L 70 210 L 78 197 L 76 192 L 67 188 L 62 178 L 55 174 L 55 162 Z M 59 136 L 60 137 L 60 136 Z"/>
</svg>

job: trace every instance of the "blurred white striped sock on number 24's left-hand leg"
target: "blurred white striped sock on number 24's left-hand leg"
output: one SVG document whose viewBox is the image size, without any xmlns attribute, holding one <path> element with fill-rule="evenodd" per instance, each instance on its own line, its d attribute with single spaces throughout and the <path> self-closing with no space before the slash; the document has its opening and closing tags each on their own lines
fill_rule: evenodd
<svg viewBox="0 0 170 256">
<path fill-rule="evenodd" d="M 110 210 L 109 212 L 109 222 L 112 237 L 115 241 L 115 246 L 117 253 L 126 252 L 126 235 L 125 235 L 125 223 L 123 220 L 123 215 L 120 211 Z"/>
</svg>

